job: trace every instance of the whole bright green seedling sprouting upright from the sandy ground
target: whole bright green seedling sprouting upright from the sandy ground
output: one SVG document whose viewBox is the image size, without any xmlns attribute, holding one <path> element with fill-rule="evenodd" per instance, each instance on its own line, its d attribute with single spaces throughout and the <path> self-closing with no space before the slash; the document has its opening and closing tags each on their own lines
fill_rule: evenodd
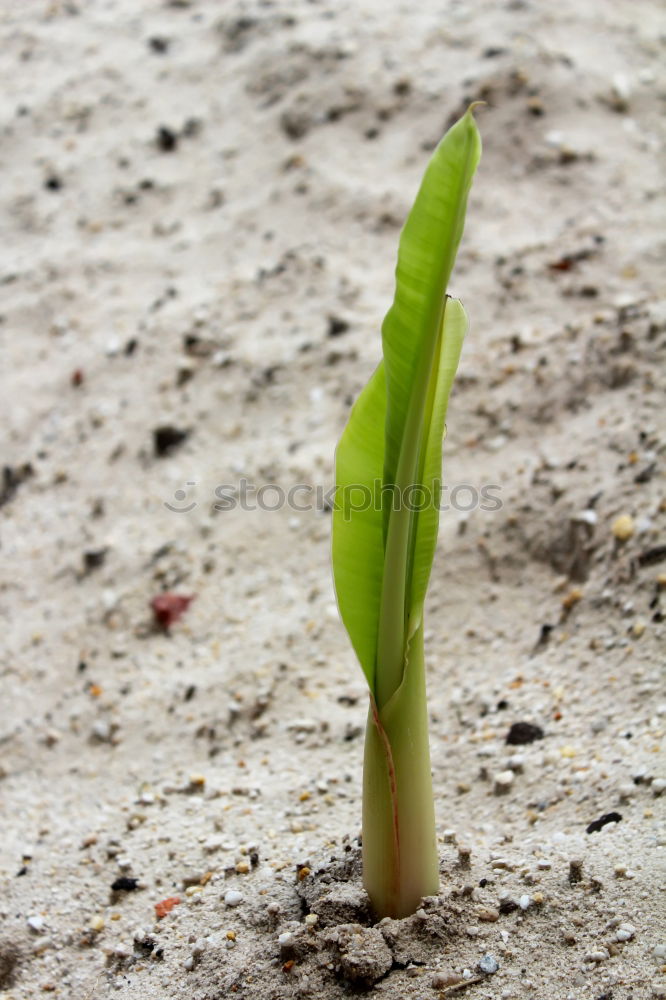
<svg viewBox="0 0 666 1000">
<path fill-rule="evenodd" d="M 336 451 L 333 575 L 370 689 L 363 879 L 379 917 L 439 891 L 423 651 L 442 439 L 467 317 L 446 294 L 481 155 L 473 106 L 441 140 L 400 236 L 383 360 Z"/>
</svg>

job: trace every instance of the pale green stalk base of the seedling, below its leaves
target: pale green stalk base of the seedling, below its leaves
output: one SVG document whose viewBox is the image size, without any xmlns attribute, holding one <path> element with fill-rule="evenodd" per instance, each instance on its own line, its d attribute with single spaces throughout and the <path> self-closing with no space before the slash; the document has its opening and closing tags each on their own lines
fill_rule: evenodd
<svg viewBox="0 0 666 1000">
<path fill-rule="evenodd" d="M 363 765 L 363 882 L 381 917 L 414 913 L 439 892 L 430 776 L 423 626 L 403 681 L 379 711 L 371 702 Z"/>
</svg>

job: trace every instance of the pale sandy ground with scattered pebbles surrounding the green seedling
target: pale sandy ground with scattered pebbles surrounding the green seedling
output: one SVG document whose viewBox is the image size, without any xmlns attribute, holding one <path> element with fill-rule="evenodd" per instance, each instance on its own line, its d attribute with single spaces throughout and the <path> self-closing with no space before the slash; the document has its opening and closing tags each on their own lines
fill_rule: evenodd
<svg viewBox="0 0 666 1000">
<path fill-rule="evenodd" d="M 662 15 L 4 0 L 2 1000 L 666 996 Z M 477 98 L 441 895 L 376 926 L 316 488 Z"/>
</svg>

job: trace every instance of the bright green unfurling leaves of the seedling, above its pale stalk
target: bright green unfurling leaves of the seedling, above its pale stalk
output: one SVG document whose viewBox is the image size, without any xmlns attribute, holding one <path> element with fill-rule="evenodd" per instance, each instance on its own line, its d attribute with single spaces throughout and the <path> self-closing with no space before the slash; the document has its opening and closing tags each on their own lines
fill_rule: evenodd
<svg viewBox="0 0 666 1000">
<path fill-rule="evenodd" d="M 420 614 L 437 538 L 432 490 L 465 326 L 446 286 L 480 149 L 468 111 L 432 156 L 400 237 L 384 362 L 354 406 L 336 455 L 338 605 L 380 704 L 400 683 L 409 619 Z M 431 502 L 420 512 L 407 509 L 420 489 Z"/>
</svg>

